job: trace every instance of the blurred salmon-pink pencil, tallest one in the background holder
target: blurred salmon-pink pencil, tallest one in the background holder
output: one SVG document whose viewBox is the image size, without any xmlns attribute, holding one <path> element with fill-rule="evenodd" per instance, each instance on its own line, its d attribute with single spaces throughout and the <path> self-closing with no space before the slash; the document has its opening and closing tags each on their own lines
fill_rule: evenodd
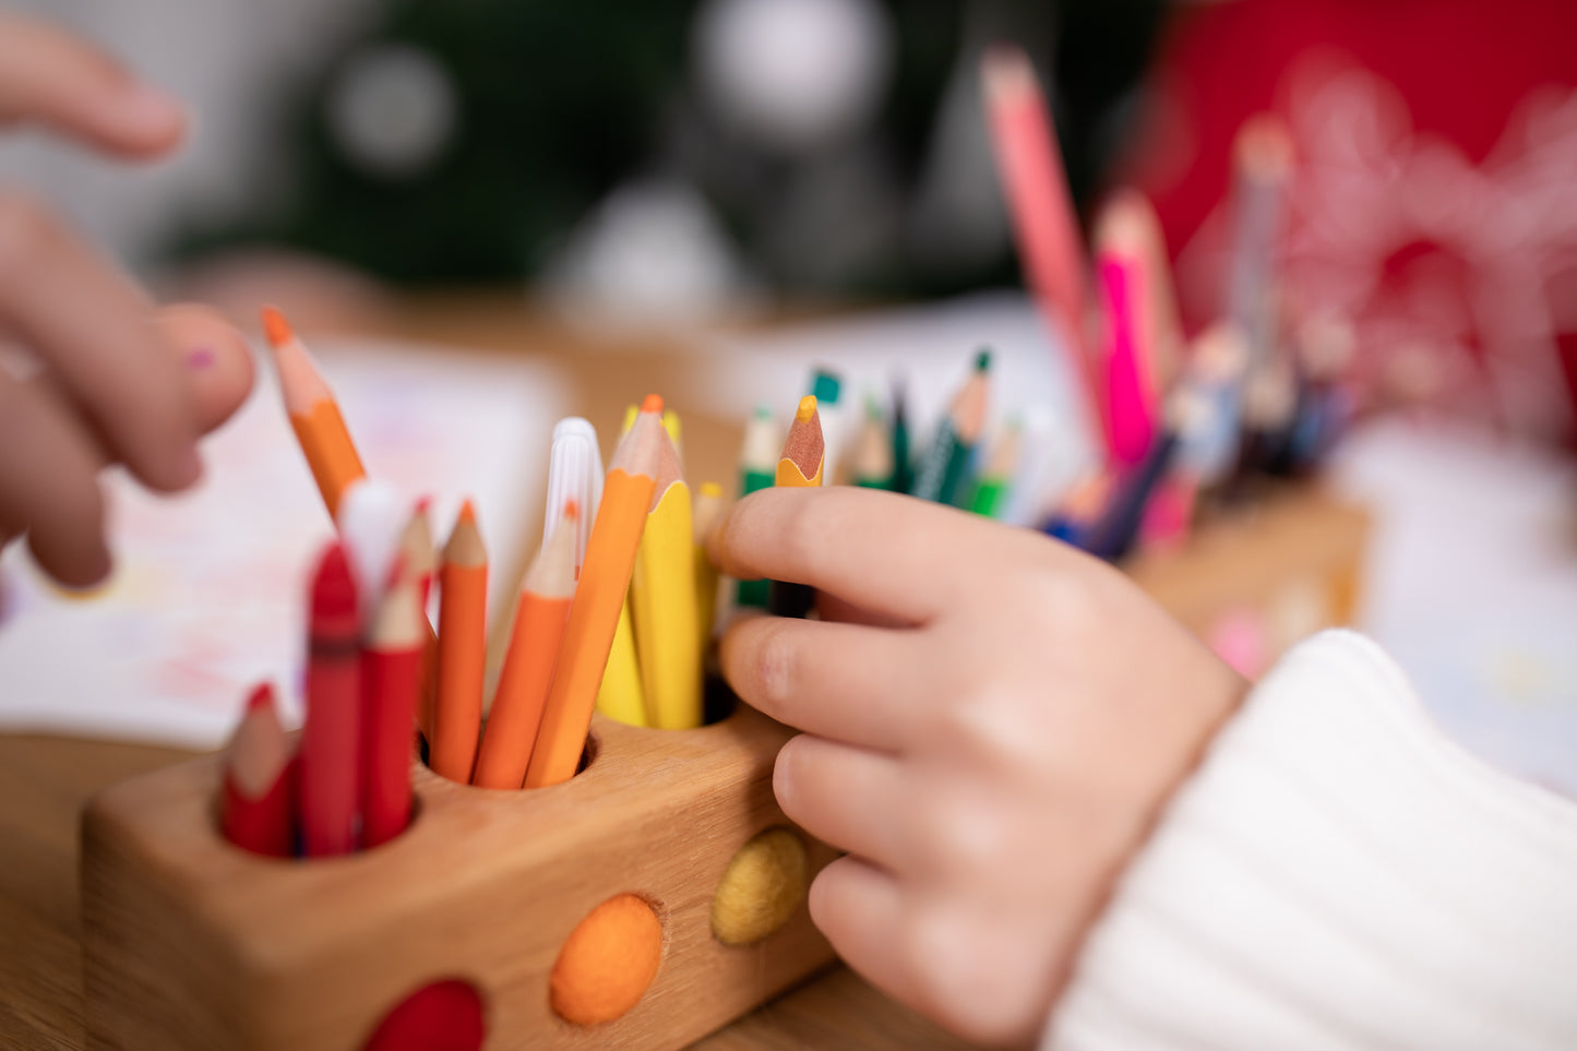
<svg viewBox="0 0 1577 1051">
<path fill-rule="evenodd" d="M 1025 278 L 1047 325 L 1061 336 L 1090 410 L 1101 413 L 1105 398 L 1090 352 L 1083 243 L 1041 85 L 1028 57 L 1006 44 L 986 54 L 981 80 Z M 1096 423 L 1104 447 L 1104 421 Z"/>
</svg>

